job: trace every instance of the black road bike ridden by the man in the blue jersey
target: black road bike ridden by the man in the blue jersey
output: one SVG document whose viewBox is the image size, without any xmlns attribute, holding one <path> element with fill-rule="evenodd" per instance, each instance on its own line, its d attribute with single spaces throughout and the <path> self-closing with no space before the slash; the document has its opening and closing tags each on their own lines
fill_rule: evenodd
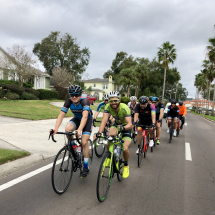
<svg viewBox="0 0 215 215">
<path fill-rule="evenodd" d="M 49 139 L 53 133 L 54 131 L 51 129 Z M 80 139 L 77 137 L 77 131 L 57 132 L 56 134 L 63 134 L 68 138 L 67 141 L 65 140 L 65 146 L 57 153 L 55 157 L 51 174 L 52 187 L 54 191 L 57 194 L 63 194 L 70 185 L 73 172 L 76 172 L 79 169 L 80 175 L 82 174 L 84 168 L 84 155 L 83 147 L 81 147 L 80 152 L 76 152 L 71 144 L 71 141 L 74 141 L 76 145 L 81 145 Z M 73 135 L 75 135 L 76 138 L 73 138 Z M 51 137 L 53 142 L 57 142 L 54 139 L 54 136 Z M 91 169 L 93 160 L 93 144 L 90 139 L 88 141 L 88 145 L 90 148 L 88 168 Z"/>
</svg>

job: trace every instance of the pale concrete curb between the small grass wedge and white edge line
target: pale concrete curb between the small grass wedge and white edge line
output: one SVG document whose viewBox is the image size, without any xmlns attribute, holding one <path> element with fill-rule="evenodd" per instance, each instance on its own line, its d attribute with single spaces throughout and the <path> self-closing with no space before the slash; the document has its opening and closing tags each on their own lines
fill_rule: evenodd
<svg viewBox="0 0 215 215">
<path fill-rule="evenodd" d="M 11 175 L 15 172 L 18 172 L 20 170 L 24 170 L 27 167 L 40 163 L 43 160 L 44 160 L 44 158 L 42 155 L 31 154 L 28 157 L 20 158 L 18 160 L 12 161 L 12 162 L 2 164 L 2 165 L 0 165 L 0 172 L 1 172 L 0 179 L 6 177 L 8 175 Z"/>
</svg>

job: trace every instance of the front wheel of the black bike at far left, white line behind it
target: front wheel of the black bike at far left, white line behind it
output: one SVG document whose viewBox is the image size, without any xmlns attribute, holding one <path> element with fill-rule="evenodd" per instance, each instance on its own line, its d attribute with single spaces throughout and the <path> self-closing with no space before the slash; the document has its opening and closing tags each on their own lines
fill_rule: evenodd
<svg viewBox="0 0 215 215">
<path fill-rule="evenodd" d="M 72 154 L 64 147 L 58 152 L 52 167 L 52 187 L 57 194 L 63 194 L 68 189 L 73 168 Z"/>
</svg>

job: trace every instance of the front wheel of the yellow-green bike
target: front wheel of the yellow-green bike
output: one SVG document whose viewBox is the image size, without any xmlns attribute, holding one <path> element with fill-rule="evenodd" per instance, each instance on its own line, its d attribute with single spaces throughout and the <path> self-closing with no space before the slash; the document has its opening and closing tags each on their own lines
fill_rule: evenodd
<svg viewBox="0 0 215 215">
<path fill-rule="evenodd" d="M 108 164 L 109 161 L 110 153 L 106 153 L 99 168 L 96 186 L 97 199 L 100 202 L 103 202 L 107 197 L 113 175 L 113 166 L 111 163 Z"/>
</svg>

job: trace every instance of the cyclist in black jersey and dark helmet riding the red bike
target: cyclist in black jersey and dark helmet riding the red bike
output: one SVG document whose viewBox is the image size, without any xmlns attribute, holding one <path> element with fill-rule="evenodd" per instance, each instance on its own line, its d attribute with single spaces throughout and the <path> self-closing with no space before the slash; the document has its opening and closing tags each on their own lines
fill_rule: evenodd
<svg viewBox="0 0 215 215">
<path fill-rule="evenodd" d="M 147 125 L 155 127 L 155 106 L 153 104 L 148 103 L 146 96 L 141 96 L 139 98 L 139 104 L 135 107 L 135 114 L 134 114 L 134 124 L 137 124 L 137 120 L 139 118 L 138 125 Z M 154 145 L 153 141 L 153 128 L 149 128 L 149 134 L 150 134 L 150 141 L 149 146 L 152 147 Z M 138 143 L 138 149 L 136 153 L 139 153 L 139 147 L 140 147 L 140 140 L 142 137 L 142 127 L 138 127 L 137 132 L 137 143 Z"/>
</svg>

